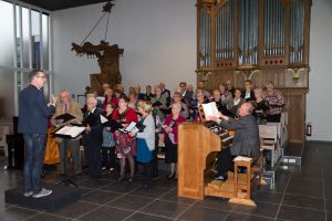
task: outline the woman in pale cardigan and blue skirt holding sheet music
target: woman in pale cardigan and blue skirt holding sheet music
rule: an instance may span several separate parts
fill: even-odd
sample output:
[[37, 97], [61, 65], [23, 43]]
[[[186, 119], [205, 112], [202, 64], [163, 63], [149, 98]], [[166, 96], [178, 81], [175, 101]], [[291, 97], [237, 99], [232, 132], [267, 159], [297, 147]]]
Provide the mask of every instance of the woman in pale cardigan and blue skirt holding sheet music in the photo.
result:
[[148, 101], [138, 103], [138, 112], [142, 114], [141, 124], [145, 126], [142, 131], [136, 134], [137, 152], [136, 160], [143, 165], [145, 175], [145, 188], [152, 185], [152, 160], [155, 149], [155, 122], [152, 115], [152, 104]]

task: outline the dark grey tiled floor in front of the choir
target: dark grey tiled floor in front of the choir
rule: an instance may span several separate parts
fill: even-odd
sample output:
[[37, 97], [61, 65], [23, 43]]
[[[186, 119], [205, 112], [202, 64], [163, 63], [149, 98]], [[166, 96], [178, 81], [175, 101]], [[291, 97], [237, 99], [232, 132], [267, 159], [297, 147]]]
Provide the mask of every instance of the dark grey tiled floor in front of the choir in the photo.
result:
[[[276, 186], [261, 187], [253, 193], [257, 208], [230, 204], [212, 197], [203, 201], [178, 198], [176, 181], [166, 179], [166, 173], [162, 173], [149, 190], [142, 188], [139, 179], [133, 183], [117, 182], [115, 176], [105, 173], [97, 182], [92, 182], [84, 175], [77, 178], [82, 199], [55, 211], [29, 210], [6, 204], [2, 191], [0, 220], [332, 220], [331, 158], [332, 145], [309, 144], [301, 167], [280, 167]], [[48, 175], [44, 182], [54, 182], [54, 175]], [[22, 171], [0, 170], [2, 190], [20, 185]]]

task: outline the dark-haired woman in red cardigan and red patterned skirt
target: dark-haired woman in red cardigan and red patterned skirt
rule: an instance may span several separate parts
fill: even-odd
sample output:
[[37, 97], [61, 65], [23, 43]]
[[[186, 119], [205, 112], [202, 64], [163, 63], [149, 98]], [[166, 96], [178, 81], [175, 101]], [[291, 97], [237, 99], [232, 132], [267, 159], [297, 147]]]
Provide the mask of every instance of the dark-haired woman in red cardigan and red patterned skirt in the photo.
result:
[[[117, 120], [124, 127], [128, 126], [132, 122], [137, 122], [137, 114], [135, 109], [128, 107], [128, 97], [125, 95], [121, 95], [118, 97], [118, 108], [113, 112], [112, 118]], [[129, 161], [131, 168], [131, 177], [128, 179], [129, 182], [133, 181], [134, 171], [135, 171], [135, 160], [134, 157], [136, 155], [136, 140], [135, 137], [129, 134], [124, 134], [121, 131], [116, 131], [115, 134], [117, 144], [115, 147], [115, 154], [117, 158], [120, 158], [120, 178], [118, 181], [124, 179], [125, 173], [125, 164], [126, 159]]]

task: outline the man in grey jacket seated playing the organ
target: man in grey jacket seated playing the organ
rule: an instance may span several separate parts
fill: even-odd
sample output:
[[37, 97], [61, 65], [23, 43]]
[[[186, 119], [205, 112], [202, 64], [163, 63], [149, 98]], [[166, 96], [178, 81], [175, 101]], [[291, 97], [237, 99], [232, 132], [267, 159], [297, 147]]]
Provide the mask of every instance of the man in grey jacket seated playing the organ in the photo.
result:
[[[230, 148], [224, 148], [218, 160], [217, 180], [227, 180], [227, 171], [232, 169], [232, 160], [237, 156], [255, 157], [259, 155], [258, 124], [252, 115], [251, 103], [243, 103], [239, 109], [239, 119], [232, 119], [222, 115], [212, 117], [221, 127], [235, 130], [234, 141]], [[221, 119], [224, 120], [221, 120]]]

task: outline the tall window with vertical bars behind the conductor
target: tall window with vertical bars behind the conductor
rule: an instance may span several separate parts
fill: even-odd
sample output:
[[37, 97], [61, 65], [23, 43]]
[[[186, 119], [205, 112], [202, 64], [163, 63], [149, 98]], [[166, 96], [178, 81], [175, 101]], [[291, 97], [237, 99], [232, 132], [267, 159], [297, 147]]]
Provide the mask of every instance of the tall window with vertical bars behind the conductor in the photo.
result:
[[[18, 94], [29, 72], [44, 70], [51, 80], [50, 12], [20, 1], [0, 0], [0, 118], [18, 115]], [[49, 97], [52, 82], [43, 88]]]

